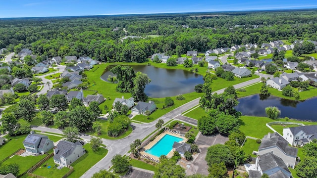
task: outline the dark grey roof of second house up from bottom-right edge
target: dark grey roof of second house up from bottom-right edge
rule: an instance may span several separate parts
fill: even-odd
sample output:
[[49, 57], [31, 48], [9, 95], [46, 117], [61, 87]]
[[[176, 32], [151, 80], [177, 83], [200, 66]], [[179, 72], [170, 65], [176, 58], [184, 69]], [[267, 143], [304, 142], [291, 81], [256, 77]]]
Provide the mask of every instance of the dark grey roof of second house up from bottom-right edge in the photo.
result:
[[272, 146], [277, 146], [285, 154], [292, 155], [295, 157], [297, 156], [297, 148], [288, 146], [288, 141], [277, 133], [270, 134], [269, 138], [267, 138], [267, 135], [264, 135], [259, 150], [269, 148]]

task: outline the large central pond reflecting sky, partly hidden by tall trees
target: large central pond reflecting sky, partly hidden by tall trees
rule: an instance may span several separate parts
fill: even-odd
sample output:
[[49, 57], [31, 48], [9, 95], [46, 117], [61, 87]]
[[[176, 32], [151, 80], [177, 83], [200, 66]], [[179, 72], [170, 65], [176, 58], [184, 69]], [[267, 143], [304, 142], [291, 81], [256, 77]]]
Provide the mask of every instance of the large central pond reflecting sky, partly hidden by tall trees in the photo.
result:
[[[108, 66], [101, 78], [107, 82], [108, 75], [113, 74]], [[175, 96], [193, 92], [195, 86], [204, 84], [203, 76], [193, 72], [180, 69], [162, 69], [147, 65], [131, 65], [135, 73], [142, 72], [148, 74], [151, 82], [145, 88], [145, 93], [149, 97], [160, 98], [166, 96]]]

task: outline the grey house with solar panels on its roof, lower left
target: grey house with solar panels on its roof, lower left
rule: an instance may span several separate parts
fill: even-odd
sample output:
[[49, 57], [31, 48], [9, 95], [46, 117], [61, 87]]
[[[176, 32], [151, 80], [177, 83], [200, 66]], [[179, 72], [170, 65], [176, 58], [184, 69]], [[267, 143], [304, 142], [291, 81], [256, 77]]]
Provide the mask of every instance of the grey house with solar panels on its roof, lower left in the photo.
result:
[[53, 141], [46, 135], [35, 134], [31, 131], [23, 141], [23, 146], [27, 152], [44, 154], [54, 147]]

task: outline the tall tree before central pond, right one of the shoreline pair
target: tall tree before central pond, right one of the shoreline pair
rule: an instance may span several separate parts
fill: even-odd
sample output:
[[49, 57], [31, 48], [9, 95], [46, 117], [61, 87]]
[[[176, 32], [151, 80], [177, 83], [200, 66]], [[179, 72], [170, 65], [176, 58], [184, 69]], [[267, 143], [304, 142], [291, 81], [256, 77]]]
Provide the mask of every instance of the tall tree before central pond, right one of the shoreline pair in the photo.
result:
[[150, 82], [151, 79], [147, 74], [143, 74], [142, 72], [136, 73], [136, 77], [133, 79], [134, 87], [131, 91], [131, 95], [136, 101], [146, 101], [148, 99], [144, 89]]

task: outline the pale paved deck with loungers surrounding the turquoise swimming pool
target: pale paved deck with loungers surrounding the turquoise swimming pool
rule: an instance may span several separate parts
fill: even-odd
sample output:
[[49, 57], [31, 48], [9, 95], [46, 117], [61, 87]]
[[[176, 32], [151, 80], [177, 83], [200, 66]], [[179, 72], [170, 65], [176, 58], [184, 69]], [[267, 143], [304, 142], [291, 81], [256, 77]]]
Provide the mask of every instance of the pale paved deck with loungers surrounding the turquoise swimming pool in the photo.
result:
[[[156, 137], [153, 141], [151, 141], [149, 144], [144, 146], [144, 149], [147, 150], [147, 149], [152, 148], [152, 146], [154, 146], [163, 136], [165, 136], [165, 134], [169, 134], [169, 135], [172, 135], [172, 136], [176, 136], [176, 137], [182, 138], [183, 140], [181, 142], [186, 142], [188, 140], [185, 136], [180, 136], [180, 134], [175, 134], [175, 132], [172, 134], [169, 131], [164, 131], [162, 134], [159, 134], [159, 136]], [[159, 160], [159, 157], [154, 156], [152, 154], [148, 154], [145, 151], [141, 151], [140, 153], [141, 153], [141, 155], [146, 155], [146, 156], [149, 156], [149, 157], [154, 158], [156, 160]], [[174, 154], [174, 151], [173, 151], [173, 149], [171, 149], [171, 151], [166, 156], [168, 158], [170, 158], [170, 157], [173, 156], [173, 154]]]

